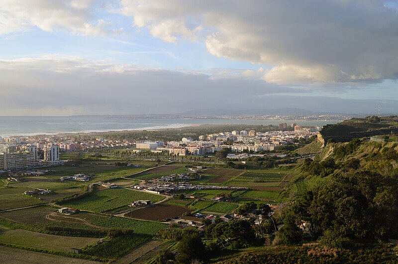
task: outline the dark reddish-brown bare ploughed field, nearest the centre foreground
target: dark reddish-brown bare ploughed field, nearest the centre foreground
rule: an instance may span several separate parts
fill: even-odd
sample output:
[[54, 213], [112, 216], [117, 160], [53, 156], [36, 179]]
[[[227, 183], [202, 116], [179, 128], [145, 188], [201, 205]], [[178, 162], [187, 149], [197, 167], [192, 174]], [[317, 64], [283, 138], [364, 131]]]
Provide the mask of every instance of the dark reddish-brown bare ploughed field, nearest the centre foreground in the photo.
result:
[[125, 216], [144, 220], [163, 220], [181, 216], [185, 212], [192, 212], [192, 210], [179, 205], [157, 204], [132, 211]]

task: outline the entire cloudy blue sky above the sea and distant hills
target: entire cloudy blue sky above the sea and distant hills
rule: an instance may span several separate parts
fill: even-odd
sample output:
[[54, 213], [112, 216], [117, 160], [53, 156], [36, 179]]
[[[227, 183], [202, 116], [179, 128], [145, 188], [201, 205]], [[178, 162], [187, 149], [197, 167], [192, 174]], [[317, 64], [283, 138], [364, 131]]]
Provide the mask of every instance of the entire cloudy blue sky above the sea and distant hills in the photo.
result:
[[0, 116], [398, 114], [397, 79], [398, 1], [0, 1]]

